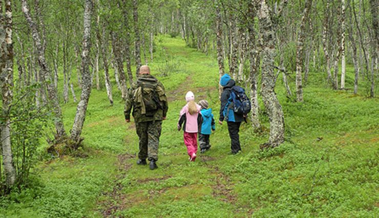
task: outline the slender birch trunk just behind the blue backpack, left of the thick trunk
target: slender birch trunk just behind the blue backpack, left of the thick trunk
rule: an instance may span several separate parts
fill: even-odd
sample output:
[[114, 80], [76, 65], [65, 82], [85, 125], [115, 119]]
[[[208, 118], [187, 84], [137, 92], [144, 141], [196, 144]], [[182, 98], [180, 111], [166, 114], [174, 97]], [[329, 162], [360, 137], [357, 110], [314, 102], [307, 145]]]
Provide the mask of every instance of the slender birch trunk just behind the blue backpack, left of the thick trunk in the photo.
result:
[[256, 32], [254, 29], [254, 20], [256, 17], [256, 10], [254, 5], [252, 5], [252, 1], [248, 4], [248, 57], [250, 64], [250, 73], [249, 73], [249, 81], [250, 81], [250, 99], [251, 99], [251, 113], [250, 120], [251, 124], [254, 128], [260, 128], [261, 123], [259, 121], [259, 104], [258, 104], [258, 69], [260, 64], [259, 53], [256, 47]]

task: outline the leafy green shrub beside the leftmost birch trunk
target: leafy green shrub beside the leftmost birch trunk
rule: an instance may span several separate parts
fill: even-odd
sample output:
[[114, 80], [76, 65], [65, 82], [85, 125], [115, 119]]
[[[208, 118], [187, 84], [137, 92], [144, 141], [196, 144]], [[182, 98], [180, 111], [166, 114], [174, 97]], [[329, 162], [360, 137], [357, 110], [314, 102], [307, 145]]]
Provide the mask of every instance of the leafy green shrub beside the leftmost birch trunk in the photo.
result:
[[31, 169], [37, 163], [38, 148], [51, 119], [47, 105], [37, 107], [35, 104], [35, 92], [39, 89], [40, 84], [36, 83], [15, 90], [10, 109], [13, 162], [19, 189], [30, 185]]

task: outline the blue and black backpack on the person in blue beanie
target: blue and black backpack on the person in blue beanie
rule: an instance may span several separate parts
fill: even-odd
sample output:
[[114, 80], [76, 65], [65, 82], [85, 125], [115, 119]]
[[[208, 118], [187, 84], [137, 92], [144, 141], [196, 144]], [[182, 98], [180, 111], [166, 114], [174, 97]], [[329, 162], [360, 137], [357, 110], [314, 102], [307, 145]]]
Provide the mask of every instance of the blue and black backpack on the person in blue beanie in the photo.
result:
[[230, 89], [229, 101], [233, 102], [233, 111], [236, 114], [245, 115], [251, 111], [250, 99], [246, 96], [245, 90], [238, 85]]

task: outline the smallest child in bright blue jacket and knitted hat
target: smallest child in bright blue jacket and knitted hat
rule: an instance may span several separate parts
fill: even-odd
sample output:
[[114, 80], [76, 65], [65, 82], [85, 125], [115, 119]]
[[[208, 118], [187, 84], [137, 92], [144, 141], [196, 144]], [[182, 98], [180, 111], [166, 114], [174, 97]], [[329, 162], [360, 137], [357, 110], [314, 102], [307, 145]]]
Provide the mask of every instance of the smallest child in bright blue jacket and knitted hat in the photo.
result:
[[215, 119], [213, 118], [212, 108], [208, 108], [208, 101], [201, 100], [198, 103], [201, 106], [201, 116], [203, 123], [201, 124], [201, 132], [199, 133], [200, 152], [204, 153], [209, 150], [209, 136], [211, 129], [216, 130]]

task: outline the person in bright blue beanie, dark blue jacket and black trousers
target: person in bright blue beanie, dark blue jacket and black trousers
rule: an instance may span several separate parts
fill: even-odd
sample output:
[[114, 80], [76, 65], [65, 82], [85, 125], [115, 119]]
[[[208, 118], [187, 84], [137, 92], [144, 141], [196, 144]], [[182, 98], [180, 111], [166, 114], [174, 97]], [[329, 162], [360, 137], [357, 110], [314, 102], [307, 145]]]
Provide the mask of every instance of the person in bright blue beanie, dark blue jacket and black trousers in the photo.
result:
[[230, 98], [231, 88], [236, 85], [236, 81], [231, 79], [228, 74], [224, 74], [220, 79], [220, 85], [223, 87], [223, 92], [220, 99], [219, 123], [222, 124], [224, 120], [227, 122], [231, 153], [235, 155], [241, 151], [240, 136], [238, 133], [240, 132], [241, 122], [244, 121], [244, 117], [233, 111], [233, 102], [231, 102]]

